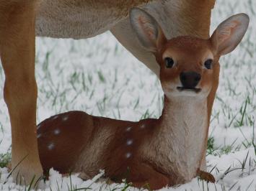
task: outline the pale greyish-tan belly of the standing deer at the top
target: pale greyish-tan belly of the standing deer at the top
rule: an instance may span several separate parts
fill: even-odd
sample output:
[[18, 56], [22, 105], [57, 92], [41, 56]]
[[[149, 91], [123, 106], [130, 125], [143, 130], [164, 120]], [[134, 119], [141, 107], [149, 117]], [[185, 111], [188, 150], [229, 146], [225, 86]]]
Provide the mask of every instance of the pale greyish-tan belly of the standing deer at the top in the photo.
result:
[[35, 31], [41, 37], [94, 37], [125, 19], [131, 7], [150, 1], [38, 0]]

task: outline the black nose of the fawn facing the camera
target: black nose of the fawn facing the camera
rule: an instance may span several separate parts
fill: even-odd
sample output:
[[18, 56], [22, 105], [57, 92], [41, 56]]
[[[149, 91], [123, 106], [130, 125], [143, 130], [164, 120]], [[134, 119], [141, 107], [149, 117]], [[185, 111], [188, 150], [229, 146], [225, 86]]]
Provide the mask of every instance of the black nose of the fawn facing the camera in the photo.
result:
[[183, 88], [195, 88], [201, 79], [201, 75], [195, 72], [180, 73], [180, 81]]

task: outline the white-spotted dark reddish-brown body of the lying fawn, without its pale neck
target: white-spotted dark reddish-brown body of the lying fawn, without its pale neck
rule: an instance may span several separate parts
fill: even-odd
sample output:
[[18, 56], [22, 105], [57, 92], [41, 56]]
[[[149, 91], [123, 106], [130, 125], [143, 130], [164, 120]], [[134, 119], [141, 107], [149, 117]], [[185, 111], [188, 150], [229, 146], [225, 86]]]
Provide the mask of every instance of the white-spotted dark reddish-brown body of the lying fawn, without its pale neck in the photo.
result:
[[[69, 116], [69, 119], [63, 121], [63, 116]], [[90, 122], [92, 120], [94, 125]], [[179, 171], [166, 171], [163, 168], [165, 165], [168, 167], [168, 163], [159, 166], [157, 162], [149, 160], [148, 154], [141, 153], [141, 148], [154, 140], [156, 132], [160, 131], [160, 121], [161, 119], [146, 119], [138, 123], [117, 121], [89, 116], [81, 111], [48, 118], [39, 124], [37, 131], [40, 135], [38, 145], [43, 169], [45, 172], [50, 167], [61, 173], [83, 172], [87, 178], [92, 178], [100, 169], [105, 169], [105, 175], [115, 182], [126, 178], [128, 182], [133, 182], [133, 186], [149, 186], [154, 190], [166, 185], [185, 183], [188, 180], [179, 175]], [[144, 129], [141, 129], [142, 125]], [[55, 129], [60, 129], [59, 135], [54, 135]], [[112, 135], [99, 140], [103, 143], [102, 148], [95, 146], [93, 139], [97, 139], [100, 131], [106, 129], [112, 131]], [[132, 140], [132, 144], [127, 145], [127, 140]], [[55, 145], [53, 150], [48, 149], [50, 143]], [[91, 161], [90, 157], [98, 150], [101, 153]], [[131, 153], [131, 157], [127, 158], [128, 153]], [[156, 153], [154, 155], [158, 156]], [[198, 163], [197, 169], [199, 167]], [[196, 171], [193, 177], [195, 175]]]

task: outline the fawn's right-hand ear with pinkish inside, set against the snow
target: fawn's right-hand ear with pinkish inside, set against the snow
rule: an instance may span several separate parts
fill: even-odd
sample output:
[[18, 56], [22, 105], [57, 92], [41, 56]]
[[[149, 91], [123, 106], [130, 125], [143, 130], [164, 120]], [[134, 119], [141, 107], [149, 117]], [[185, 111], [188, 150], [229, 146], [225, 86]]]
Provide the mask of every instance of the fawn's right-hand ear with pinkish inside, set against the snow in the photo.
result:
[[234, 50], [244, 37], [249, 24], [247, 14], [236, 14], [221, 22], [211, 35], [211, 43], [218, 55]]

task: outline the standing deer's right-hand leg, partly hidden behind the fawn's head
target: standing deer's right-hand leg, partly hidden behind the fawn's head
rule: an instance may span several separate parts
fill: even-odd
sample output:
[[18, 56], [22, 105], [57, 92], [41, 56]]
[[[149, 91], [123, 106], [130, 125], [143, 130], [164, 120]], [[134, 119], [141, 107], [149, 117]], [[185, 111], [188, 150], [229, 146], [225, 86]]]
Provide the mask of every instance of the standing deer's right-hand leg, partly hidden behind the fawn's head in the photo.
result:
[[[193, 0], [162, 1], [162, 4], [149, 4], [149, 6], [146, 7], [146, 10], [149, 11], [150, 14], [153, 14], [168, 39], [183, 35], [192, 35], [207, 39], [211, 22], [211, 9], [213, 9], [214, 4], [215, 0], [196, 2]], [[154, 11], [154, 9], [157, 11]], [[111, 29], [111, 32], [127, 50], [136, 56], [138, 60], [144, 62], [149, 69], [159, 76], [160, 70], [154, 56], [151, 55], [151, 52], [147, 52], [141, 47], [131, 29], [128, 19], [116, 24], [115, 27]], [[210, 125], [213, 101], [219, 85], [219, 62], [216, 62], [214, 67], [214, 80], [211, 92], [208, 95], [207, 103], [208, 126]], [[203, 169], [206, 168], [207, 139], [208, 136], [205, 137], [205, 151], [202, 154], [201, 166]]]

